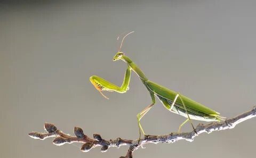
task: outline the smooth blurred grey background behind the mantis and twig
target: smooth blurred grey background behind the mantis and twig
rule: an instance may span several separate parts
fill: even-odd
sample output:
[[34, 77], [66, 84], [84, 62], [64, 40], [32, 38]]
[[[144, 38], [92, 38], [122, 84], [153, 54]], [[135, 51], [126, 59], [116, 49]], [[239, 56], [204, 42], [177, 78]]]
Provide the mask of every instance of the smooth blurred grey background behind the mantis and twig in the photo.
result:
[[[103, 98], [89, 77], [122, 84], [126, 64], [113, 62], [118, 35], [135, 31], [125, 54], [146, 76], [234, 117], [256, 103], [255, 1], [1, 1], [0, 157], [119, 157], [127, 146], [101, 153], [81, 144], [30, 138], [44, 122], [73, 134], [138, 138], [136, 115], [150, 96], [132, 73], [125, 94]], [[141, 120], [146, 134], [178, 130], [185, 118], [158, 102]], [[199, 121], [193, 121], [198, 124]], [[254, 157], [255, 119], [192, 143], [148, 144], [134, 157]], [[207, 123], [207, 122], [202, 122]], [[182, 131], [191, 131], [187, 123]]]

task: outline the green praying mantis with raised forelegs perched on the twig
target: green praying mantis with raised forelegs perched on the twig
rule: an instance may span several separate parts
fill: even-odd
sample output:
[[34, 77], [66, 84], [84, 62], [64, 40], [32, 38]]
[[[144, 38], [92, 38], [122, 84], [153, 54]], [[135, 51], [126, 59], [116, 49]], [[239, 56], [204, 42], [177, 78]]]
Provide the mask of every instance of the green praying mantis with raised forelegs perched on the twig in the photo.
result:
[[195, 131], [191, 119], [201, 121], [225, 120], [225, 117], [221, 117], [220, 113], [210, 109], [209, 107], [206, 107], [200, 103], [193, 101], [193, 99], [190, 99], [184, 95], [181, 95], [180, 93], [174, 92], [173, 90], [170, 90], [164, 86], [158, 85], [155, 82], [148, 80], [148, 78], [140, 70], [140, 68], [128, 56], [121, 52], [122, 44], [125, 37], [133, 32], [134, 31], [130, 32], [129, 34], [123, 37], [119, 50], [113, 58], [113, 61], [122, 60], [127, 64], [127, 69], [125, 71], [124, 80], [121, 87], [118, 87], [115, 84], [95, 75], [90, 77], [90, 81], [93, 84], [93, 86], [97, 90], [99, 90], [101, 95], [107, 98], [105, 95], [103, 95], [102, 91], [105, 90], [109, 92], [125, 93], [129, 89], [131, 71], [134, 71], [138, 75], [139, 79], [141, 80], [142, 84], [145, 85], [151, 97], [151, 104], [137, 114], [137, 122], [139, 126], [139, 139], [141, 138], [141, 132], [145, 136], [145, 132], [142, 129], [140, 120], [155, 104], [155, 97], [158, 97], [159, 101], [164, 105], [164, 107], [167, 110], [187, 118], [183, 123], [180, 124], [178, 132], [180, 132], [181, 127], [187, 121], [190, 122], [191, 126]]

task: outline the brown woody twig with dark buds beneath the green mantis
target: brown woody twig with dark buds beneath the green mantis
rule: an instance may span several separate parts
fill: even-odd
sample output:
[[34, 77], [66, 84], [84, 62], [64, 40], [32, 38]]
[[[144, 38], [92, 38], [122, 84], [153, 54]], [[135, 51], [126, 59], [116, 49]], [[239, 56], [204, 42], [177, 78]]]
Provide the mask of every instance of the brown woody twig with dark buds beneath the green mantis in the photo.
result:
[[46, 132], [30, 132], [28, 135], [31, 138], [34, 139], [41, 139], [44, 140], [49, 137], [56, 137], [53, 140], [53, 144], [55, 145], [63, 145], [63, 144], [71, 144], [75, 142], [83, 143], [81, 147], [82, 152], [89, 152], [92, 148], [101, 146], [101, 152], [106, 152], [109, 147], [119, 147], [121, 145], [129, 145], [129, 149], [127, 151], [126, 156], [121, 156], [119, 158], [131, 158], [133, 152], [138, 149], [140, 146], [148, 143], [174, 143], [177, 140], [187, 140], [189, 142], [192, 142], [194, 138], [203, 132], [207, 132], [210, 134], [212, 131], [218, 131], [218, 130], [226, 130], [231, 129], [236, 126], [236, 124], [241, 123], [245, 120], [251, 119], [256, 117], [256, 106], [253, 107], [252, 110], [244, 112], [242, 114], [237, 115], [234, 118], [227, 119], [225, 121], [221, 122], [211, 122], [209, 124], [202, 124], [199, 123], [198, 126], [195, 128], [195, 131], [191, 132], [171, 132], [167, 135], [146, 135], [143, 139], [138, 140], [130, 140], [130, 139], [122, 139], [122, 138], [116, 138], [114, 140], [105, 140], [102, 139], [99, 134], [93, 134], [93, 138], [90, 138], [86, 135], [84, 135], [84, 132], [82, 128], [75, 127], [74, 133], [75, 136], [69, 136], [65, 134], [64, 132], [57, 129], [57, 127], [54, 126], [54, 124], [51, 123], [45, 123], [44, 128]]

